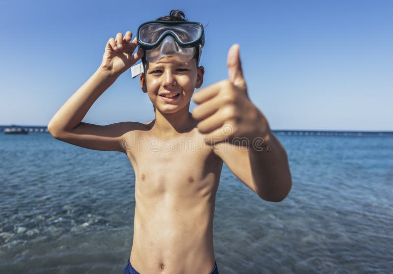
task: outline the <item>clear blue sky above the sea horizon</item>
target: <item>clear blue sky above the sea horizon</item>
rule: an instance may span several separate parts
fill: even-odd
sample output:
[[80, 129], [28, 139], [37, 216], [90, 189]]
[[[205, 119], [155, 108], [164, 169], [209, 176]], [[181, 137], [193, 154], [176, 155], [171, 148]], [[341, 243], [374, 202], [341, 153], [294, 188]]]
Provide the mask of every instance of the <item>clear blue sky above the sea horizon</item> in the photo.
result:
[[[249, 97], [272, 129], [393, 130], [393, 1], [2, 1], [0, 125], [46, 125], [117, 32], [182, 9], [205, 27], [203, 87], [240, 44]], [[196, 105], [192, 102], [191, 110]], [[146, 122], [130, 71], [84, 122]]]

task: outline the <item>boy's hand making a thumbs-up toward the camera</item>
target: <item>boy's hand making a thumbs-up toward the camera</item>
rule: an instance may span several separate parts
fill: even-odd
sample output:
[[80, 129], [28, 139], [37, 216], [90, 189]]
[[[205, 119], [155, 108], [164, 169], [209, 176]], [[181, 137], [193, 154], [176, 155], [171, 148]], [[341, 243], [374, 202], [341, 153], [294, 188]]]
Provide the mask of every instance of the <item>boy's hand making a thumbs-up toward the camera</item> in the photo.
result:
[[205, 87], [194, 94], [199, 104], [193, 118], [199, 132], [207, 134], [206, 143], [231, 142], [235, 138], [265, 137], [270, 133], [266, 118], [250, 101], [243, 77], [239, 45], [228, 51], [228, 80]]

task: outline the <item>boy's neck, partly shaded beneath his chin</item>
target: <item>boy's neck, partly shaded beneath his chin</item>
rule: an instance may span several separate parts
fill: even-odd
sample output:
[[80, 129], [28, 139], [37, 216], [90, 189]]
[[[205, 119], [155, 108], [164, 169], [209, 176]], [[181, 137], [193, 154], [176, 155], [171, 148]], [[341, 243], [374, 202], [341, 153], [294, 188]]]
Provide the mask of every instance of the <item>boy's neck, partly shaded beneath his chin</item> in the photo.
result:
[[192, 117], [190, 103], [183, 109], [174, 113], [164, 113], [155, 108], [156, 119], [153, 129], [157, 135], [164, 137], [178, 137], [181, 133], [189, 132], [197, 126], [197, 121]]

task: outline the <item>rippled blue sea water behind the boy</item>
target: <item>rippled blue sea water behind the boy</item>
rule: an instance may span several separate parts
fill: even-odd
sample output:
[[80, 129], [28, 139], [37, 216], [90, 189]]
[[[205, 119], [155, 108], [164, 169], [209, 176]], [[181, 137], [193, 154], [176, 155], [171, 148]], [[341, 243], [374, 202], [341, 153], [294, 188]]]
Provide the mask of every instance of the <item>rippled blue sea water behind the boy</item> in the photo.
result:
[[[393, 136], [277, 134], [293, 179], [282, 202], [224, 164], [220, 274], [393, 273]], [[135, 209], [125, 155], [0, 132], [0, 163], [0, 273], [122, 273]]]

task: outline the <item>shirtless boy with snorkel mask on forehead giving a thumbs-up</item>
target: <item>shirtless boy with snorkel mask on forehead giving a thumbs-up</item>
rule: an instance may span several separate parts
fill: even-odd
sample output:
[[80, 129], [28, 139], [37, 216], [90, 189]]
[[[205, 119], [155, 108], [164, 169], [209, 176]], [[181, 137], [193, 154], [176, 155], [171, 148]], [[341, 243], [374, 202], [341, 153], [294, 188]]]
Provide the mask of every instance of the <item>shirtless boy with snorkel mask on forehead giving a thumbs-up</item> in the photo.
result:
[[[223, 162], [260, 198], [279, 202], [291, 188], [285, 150], [248, 98], [238, 45], [228, 52], [229, 80], [198, 91], [199, 105], [190, 113], [204, 75], [198, 64], [202, 25], [172, 10], [142, 24], [132, 42], [131, 36], [117, 33], [108, 41], [99, 69], [56, 112], [48, 130], [56, 139], [129, 158], [136, 205], [125, 274], [217, 274], [213, 216]], [[140, 58], [136, 74], [142, 72], [141, 89], [155, 119], [82, 122], [95, 100]]]

